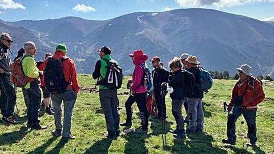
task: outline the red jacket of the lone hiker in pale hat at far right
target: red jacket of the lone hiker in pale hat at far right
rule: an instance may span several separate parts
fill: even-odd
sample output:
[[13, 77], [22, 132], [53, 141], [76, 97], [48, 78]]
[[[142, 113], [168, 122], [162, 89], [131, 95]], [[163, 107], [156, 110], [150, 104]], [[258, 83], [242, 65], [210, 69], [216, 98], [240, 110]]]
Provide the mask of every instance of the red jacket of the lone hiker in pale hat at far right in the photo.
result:
[[234, 85], [231, 100], [229, 103], [230, 107], [233, 106], [236, 95], [240, 97], [243, 96], [242, 106], [244, 110], [256, 110], [257, 104], [261, 103], [265, 98], [263, 87], [261, 85], [261, 82], [257, 78], [254, 78], [254, 80], [248, 79], [245, 81], [242, 81], [241, 79], [239, 79], [236, 82], [236, 84]]

